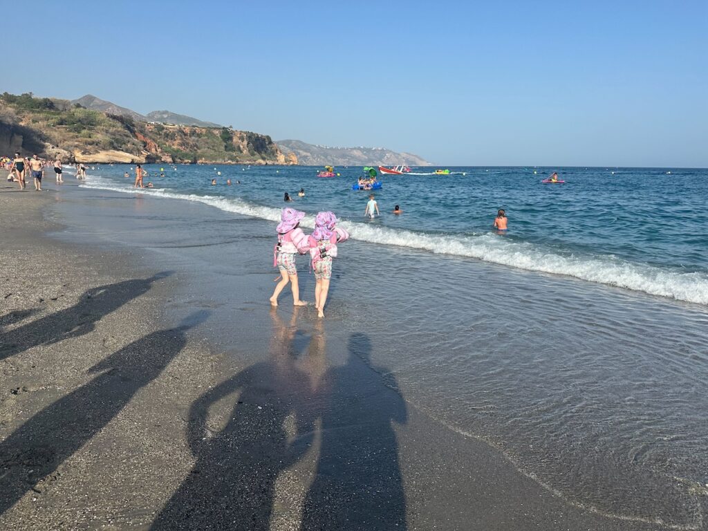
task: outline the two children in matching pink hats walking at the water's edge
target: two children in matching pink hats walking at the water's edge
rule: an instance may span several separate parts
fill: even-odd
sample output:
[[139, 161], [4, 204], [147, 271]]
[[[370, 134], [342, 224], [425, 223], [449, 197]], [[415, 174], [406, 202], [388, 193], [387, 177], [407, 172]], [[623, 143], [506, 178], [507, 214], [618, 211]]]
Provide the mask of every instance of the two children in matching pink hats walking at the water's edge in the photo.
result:
[[324, 317], [324, 305], [327, 302], [329, 282], [332, 278], [332, 261], [338, 255], [337, 245], [349, 238], [349, 233], [337, 227], [338, 219], [334, 212], [319, 212], [314, 219], [314, 231], [305, 236], [299, 228], [304, 212], [294, 208], [284, 208], [280, 212], [280, 224], [275, 228], [278, 232], [278, 243], [273, 248], [273, 266], [278, 266], [280, 277], [275, 285], [270, 304], [278, 306], [278, 296], [288, 282], [292, 290], [292, 304], [306, 306], [307, 302], [300, 299], [297, 282], [297, 267], [295, 256], [309, 253], [310, 267], [314, 271], [314, 299], [317, 315]]

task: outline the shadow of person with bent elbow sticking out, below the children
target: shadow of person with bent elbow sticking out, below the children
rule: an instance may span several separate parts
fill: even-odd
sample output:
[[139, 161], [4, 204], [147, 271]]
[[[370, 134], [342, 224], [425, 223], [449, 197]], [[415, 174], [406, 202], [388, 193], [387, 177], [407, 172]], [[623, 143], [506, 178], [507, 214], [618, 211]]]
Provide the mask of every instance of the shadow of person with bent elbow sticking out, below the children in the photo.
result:
[[[312, 426], [297, 410], [309, 394], [296, 367], [298, 309], [287, 326], [273, 316], [267, 361], [252, 365], [198, 398], [190, 410], [188, 440], [196, 457], [189, 475], [167, 502], [153, 530], [268, 530], [275, 479], [304, 455]], [[236, 396], [238, 398], [236, 399]], [[229, 399], [222, 421], [210, 409]], [[292, 415], [292, 417], [291, 417]], [[285, 424], [292, 421], [288, 437]]]

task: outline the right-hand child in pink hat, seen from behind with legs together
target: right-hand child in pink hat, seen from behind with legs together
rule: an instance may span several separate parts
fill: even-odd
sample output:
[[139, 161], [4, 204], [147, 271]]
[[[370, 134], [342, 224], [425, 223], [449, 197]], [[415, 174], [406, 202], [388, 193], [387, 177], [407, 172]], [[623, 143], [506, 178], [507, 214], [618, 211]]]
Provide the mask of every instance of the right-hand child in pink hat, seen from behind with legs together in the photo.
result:
[[320, 317], [324, 317], [324, 304], [327, 302], [329, 280], [332, 278], [332, 258], [337, 256], [337, 244], [349, 238], [346, 230], [335, 227], [337, 221], [333, 212], [319, 212], [314, 219], [314, 232], [308, 241], [315, 278], [315, 307]]

